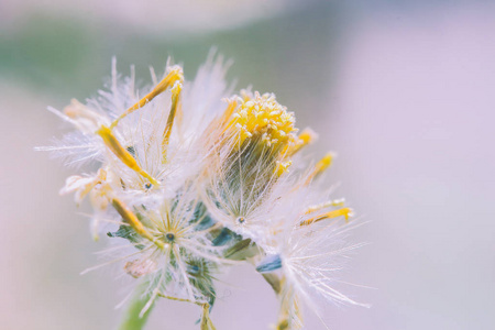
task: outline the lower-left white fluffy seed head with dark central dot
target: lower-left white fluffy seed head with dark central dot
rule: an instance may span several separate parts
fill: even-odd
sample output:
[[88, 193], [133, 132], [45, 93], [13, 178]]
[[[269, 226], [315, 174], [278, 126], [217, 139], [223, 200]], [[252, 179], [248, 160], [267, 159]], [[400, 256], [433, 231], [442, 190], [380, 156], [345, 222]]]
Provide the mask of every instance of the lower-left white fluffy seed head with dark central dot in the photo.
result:
[[216, 227], [193, 193], [178, 194], [154, 210], [142, 206], [132, 211], [121, 200], [112, 201], [123, 222], [109, 235], [139, 250], [123, 257], [124, 271], [135, 278], [146, 275], [150, 283], [142, 314], [158, 295], [213, 305], [217, 267], [232, 263], [222, 257], [224, 248], [212, 244]]

